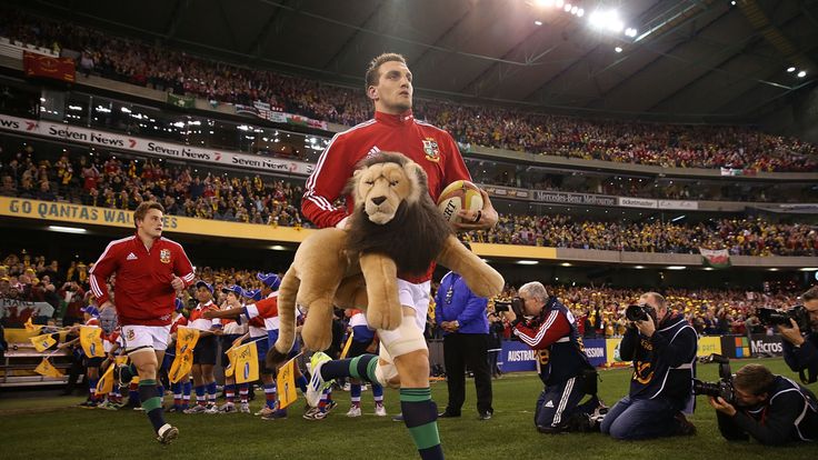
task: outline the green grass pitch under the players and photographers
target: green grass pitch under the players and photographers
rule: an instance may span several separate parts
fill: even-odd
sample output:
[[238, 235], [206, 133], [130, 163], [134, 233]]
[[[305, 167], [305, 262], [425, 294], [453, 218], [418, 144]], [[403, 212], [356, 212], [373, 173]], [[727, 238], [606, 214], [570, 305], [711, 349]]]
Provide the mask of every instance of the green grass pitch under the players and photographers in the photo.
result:
[[[774, 372], [796, 378], [780, 359], [734, 361], [736, 371], [748, 362], [762, 362]], [[699, 366], [699, 378], [715, 380], [715, 364]], [[630, 371], [601, 371], [600, 397], [612, 406], [627, 392]], [[477, 420], [473, 382], [467, 381], [460, 419], [439, 420], [448, 459], [818, 459], [818, 444], [765, 448], [758, 443], [729, 443], [718, 433], [716, 416], [699, 398], [692, 417], [694, 437], [621, 442], [599, 433], [545, 436], [533, 429], [533, 404], [541, 383], [533, 373], [511, 374], [493, 381], [495, 417]], [[814, 391], [818, 384], [812, 384]], [[252, 403], [258, 410], [263, 396]], [[446, 383], [432, 384], [440, 410]], [[345, 417], [349, 393], [336, 391], [338, 408], [323, 421], [301, 418], [302, 400], [285, 420], [262, 421], [251, 414], [168, 414], [180, 436], [160, 446], [142, 412], [80, 409], [78, 397], [20, 398], [0, 394], [0, 458], [11, 459], [417, 459], [402, 423], [372, 414], [371, 392], [363, 392], [365, 416]], [[170, 397], [166, 403], [170, 403]], [[387, 409], [399, 412], [398, 394], [386, 392]]]

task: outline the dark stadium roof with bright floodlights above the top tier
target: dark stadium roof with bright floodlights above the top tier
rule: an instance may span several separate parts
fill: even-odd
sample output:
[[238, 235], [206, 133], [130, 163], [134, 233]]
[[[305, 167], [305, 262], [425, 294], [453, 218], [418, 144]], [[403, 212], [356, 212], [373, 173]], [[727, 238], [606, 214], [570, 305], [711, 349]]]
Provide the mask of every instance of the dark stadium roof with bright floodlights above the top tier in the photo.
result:
[[[560, 0], [18, 4], [216, 59], [359, 88], [369, 59], [397, 51], [408, 58], [421, 94], [548, 111], [755, 121], [818, 81], [816, 0], [567, 2], [585, 14], [557, 8]], [[591, 26], [595, 11], [610, 10], [621, 18], [614, 27], [619, 31]], [[621, 33], [626, 27], [636, 29], [632, 37]], [[806, 76], [798, 76], [801, 70]]]

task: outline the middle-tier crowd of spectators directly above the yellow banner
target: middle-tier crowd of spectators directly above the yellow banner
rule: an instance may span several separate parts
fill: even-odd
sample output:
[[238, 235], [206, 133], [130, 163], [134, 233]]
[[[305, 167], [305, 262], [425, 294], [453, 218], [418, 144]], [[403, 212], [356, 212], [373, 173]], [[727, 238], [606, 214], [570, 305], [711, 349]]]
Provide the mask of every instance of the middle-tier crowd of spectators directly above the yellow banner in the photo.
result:
[[[281, 227], [310, 227], [300, 212], [302, 187], [260, 176], [198, 173], [161, 160], [123, 160], [113, 154], [68, 151], [53, 163], [31, 146], [0, 157], [0, 194], [132, 210], [144, 200], [167, 212], [199, 219]], [[610, 222], [570, 216], [502, 214], [491, 231], [471, 241], [632, 252], [697, 253], [728, 249], [732, 256], [817, 256], [818, 230], [761, 218], [698, 223]]]

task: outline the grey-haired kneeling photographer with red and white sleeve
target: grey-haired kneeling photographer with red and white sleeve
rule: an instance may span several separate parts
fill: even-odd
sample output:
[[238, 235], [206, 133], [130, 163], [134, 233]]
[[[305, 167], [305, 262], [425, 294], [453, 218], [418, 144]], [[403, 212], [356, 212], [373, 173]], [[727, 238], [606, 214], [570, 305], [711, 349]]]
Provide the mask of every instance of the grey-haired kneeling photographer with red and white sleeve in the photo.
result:
[[[520, 341], [539, 351], [540, 379], [546, 384], [535, 409], [541, 433], [590, 431], [595, 410], [605, 409], [597, 398], [597, 372], [588, 361], [571, 312], [539, 282], [519, 289], [502, 314]], [[498, 311], [502, 303], [495, 302]], [[510, 307], [510, 308], [509, 308]], [[586, 394], [588, 401], [579, 403]]]

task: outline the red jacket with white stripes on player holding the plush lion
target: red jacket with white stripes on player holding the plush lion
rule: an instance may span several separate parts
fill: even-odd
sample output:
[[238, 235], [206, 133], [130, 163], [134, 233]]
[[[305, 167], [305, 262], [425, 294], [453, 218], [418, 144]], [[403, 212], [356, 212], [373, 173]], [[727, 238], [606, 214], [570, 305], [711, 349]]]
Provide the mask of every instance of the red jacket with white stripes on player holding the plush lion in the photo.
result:
[[[332, 203], [341, 197], [359, 161], [380, 151], [400, 152], [420, 164], [429, 177], [429, 194], [437, 202], [440, 192], [456, 180], [471, 180], [460, 151], [448, 132], [418, 121], [411, 111], [400, 116], [376, 112], [372, 120], [336, 134], [318, 159], [307, 180], [301, 212], [320, 228], [335, 227], [352, 212], [355, 201], [346, 197], [347, 209]], [[418, 282], [430, 279], [409, 279]], [[405, 277], [401, 277], [405, 278]]]

